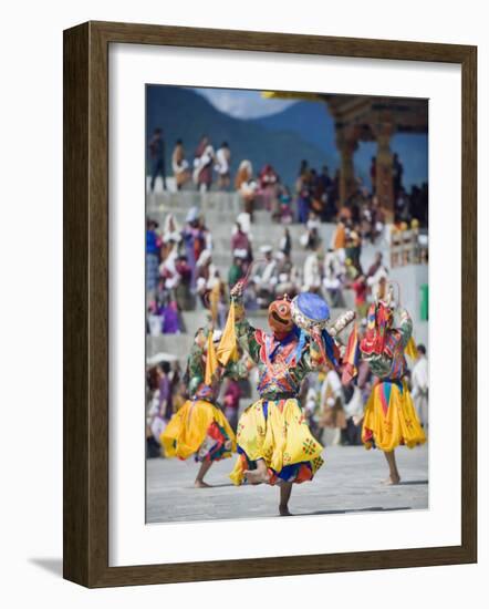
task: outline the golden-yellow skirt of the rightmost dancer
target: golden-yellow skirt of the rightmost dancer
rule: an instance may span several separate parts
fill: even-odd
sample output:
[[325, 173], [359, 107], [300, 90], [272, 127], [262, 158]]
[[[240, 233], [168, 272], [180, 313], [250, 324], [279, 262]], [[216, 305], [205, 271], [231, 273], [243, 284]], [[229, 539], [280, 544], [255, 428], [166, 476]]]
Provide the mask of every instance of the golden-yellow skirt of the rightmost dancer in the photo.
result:
[[413, 448], [426, 442], [404, 381], [381, 381], [374, 386], [365, 406], [362, 441], [366, 448], [375, 444], [386, 453], [399, 444]]

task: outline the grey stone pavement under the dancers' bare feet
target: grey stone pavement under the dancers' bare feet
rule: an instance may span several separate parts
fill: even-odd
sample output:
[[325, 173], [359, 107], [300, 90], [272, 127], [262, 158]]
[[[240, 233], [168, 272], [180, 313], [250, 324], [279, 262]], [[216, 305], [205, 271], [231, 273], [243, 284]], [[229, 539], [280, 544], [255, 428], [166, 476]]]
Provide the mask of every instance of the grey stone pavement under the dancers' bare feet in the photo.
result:
[[[325, 464], [312, 482], [294, 485], [289, 504], [298, 516], [426, 509], [428, 447], [396, 450], [402, 483], [386, 486], [387, 465], [379, 451], [330, 446]], [[206, 481], [212, 488], [194, 488], [198, 464], [193, 460], [147, 461], [147, 523], [196, 522], [277, 516], [279, 489], [267, 485], [233, 486], [228, 478], [236, 456], [214, 464]]]

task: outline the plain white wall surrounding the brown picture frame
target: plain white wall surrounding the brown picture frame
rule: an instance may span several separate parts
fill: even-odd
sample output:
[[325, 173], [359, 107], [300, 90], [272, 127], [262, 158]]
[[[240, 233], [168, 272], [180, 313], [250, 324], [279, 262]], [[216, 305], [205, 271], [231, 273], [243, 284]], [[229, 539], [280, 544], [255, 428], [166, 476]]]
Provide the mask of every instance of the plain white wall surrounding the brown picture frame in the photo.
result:
[[[282, 607], [304, 602], [396, 608], [460, 607], [487, 598], [488, 441], [480, 379], [480, 564], [410, 569], [87, 591], [63, 581], [61, 560], [62, 396], [62, 30], [87, 19], [311, 34], [479, 44], [479, 226], [488, 226], [487, 171], [489, 41], [485, 3], [466, 0], [393, 3], [343, 2], [8, 2], [2, 4], [1, 179], [1, 574], [6, 607], [215, 607], [254, 609], [266, 598]], [[447, 125], [449, 128], [449, 125]], [[13, 163], [11, 161], [13, 159]], [[488, 256], [481, 240], [480, 260]], [[486, 265], [482, 273], [486, 271]], [[481, 275], [482, 275], [481, 273]], [[29, 289], [25, 290], [25, 277]], [[7, 281], [6, 281], [7, 280]], [[480, 291], [487, 295], [487, 280]], [[481, 299], [485, 302], [483, 299]], [[480, 327], [487, 337], [488, 316]], [[28, 331], [29, 340], [23, 338]], [[480, 341], [481, 342], [481, 341]], [[30, 344], [29, 353], [25, 345]], [[487, 355], [480, 350], [480, 367]], [[6, 421], [3, 421], [7, 419]], [[25, 454], [25, 444], [33, 444]], [[447, 472], [449, 475], [449, 472]], [[53, 572], [55, 571], [55, 575]], [[263, 596], [262, 596], [263, 595]], [[271, 598], [270, 598], [271, 597]], [[262, 601], [259, 599], [262, 598]], [[419, 600], [418, 600], [419, 599]], [[416, 601], [418, 600], [418, 603]], [[6, 602], [7, 601], [7, 602]], [[181, 605], [183, 603], [183, 605]], [[475, 603], [480, 607], [481, 602]]]

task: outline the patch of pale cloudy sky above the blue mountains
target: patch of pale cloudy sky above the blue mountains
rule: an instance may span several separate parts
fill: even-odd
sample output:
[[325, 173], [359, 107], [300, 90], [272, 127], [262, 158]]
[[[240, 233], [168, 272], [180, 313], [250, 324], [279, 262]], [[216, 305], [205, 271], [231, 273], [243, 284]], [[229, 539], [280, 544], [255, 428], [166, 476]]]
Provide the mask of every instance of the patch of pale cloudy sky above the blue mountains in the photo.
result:
[[293, 100], [267, 100], [259, 91], [235, 89], [195, 89], [215, 107], [237, 118], [258, 118], [281, 112], [294, 104]]

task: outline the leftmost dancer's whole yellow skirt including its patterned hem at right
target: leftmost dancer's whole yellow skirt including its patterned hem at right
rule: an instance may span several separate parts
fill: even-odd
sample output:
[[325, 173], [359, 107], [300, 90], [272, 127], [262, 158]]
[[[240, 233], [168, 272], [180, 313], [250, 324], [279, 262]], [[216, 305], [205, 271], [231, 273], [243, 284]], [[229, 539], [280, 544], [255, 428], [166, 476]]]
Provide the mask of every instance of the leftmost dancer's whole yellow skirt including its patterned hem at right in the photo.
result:
[[[188, 400], [160, 435], [167, 457], [219, 461], [236, 451], [236, 438], [222, 412], [205, 400]], [[229, 441], [231, 446], [229, 447]]]

